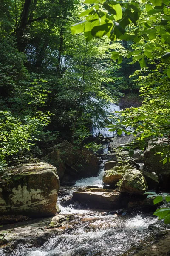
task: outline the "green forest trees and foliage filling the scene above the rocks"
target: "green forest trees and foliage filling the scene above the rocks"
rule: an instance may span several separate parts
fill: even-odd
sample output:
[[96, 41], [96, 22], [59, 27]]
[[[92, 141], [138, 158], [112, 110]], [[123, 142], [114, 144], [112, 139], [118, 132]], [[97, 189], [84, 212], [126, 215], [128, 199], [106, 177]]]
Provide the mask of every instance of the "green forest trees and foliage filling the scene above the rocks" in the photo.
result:
[[[168, 0], [2, 0], [2, 168], [41, 157], [62, 140], [85, 145], [94, 123], [119, 135], [133, 128], [141, 148], [145, 138], [168, 139], [169, 6]], [[141, 94], [142, 106], [108, 121], [108, 103], [133, 93]]]

